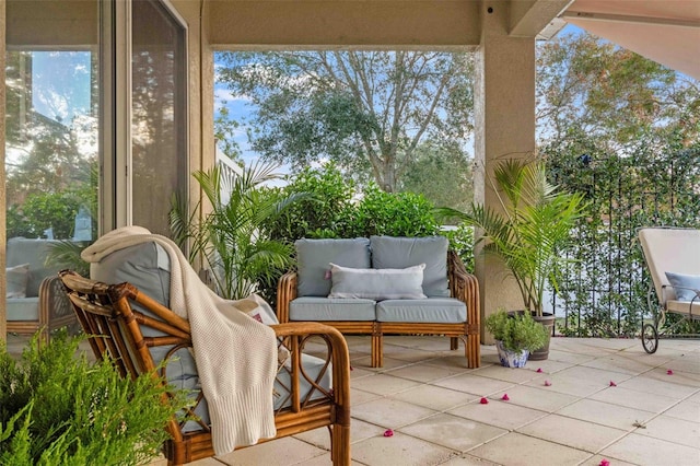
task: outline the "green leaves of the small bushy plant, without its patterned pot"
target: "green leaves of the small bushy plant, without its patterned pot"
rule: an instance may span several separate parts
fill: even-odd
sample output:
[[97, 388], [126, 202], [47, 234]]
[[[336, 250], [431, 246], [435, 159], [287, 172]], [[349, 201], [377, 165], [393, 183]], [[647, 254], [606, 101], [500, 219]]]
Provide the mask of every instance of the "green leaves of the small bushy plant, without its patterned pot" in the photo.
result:
[[485, 325], [511, 351], [535, 351], [547, 343], [547, 330], [528, 312], [499, 310], [486, 318]]

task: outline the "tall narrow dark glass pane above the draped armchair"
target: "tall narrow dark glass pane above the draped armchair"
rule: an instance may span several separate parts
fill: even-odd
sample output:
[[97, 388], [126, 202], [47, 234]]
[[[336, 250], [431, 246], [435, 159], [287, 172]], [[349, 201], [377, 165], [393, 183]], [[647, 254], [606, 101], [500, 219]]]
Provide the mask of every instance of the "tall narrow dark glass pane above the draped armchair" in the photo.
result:
[[185, 33], [156, 1], [135, 1], [132, 19], [132, 218], [170, 235], [171, 198], [187, 185]]

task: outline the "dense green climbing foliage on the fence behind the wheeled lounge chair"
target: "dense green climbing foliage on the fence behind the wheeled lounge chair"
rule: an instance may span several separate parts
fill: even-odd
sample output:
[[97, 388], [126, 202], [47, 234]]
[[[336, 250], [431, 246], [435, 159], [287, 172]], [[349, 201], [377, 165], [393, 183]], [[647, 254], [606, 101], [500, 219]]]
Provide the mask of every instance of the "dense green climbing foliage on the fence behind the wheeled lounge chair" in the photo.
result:
[[561, 330], [632, 336], [649, 308], [651, 283], [637, 230], [700, 228], [700, 143], [648, 133], [616, 151], [595, 137], [570, 136], [545, 149], [553, 182], [583, 193], [587, 201], [567, 247], [575, 261], [558, 279], [557, 304], [568, 315]]

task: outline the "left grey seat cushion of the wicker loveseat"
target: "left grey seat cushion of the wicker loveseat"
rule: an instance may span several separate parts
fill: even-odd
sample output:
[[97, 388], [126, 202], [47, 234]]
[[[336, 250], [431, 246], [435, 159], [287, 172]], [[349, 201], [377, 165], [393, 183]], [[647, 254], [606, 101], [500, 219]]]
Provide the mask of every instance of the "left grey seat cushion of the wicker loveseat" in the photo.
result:
[[289, 304], [290, 321], [375, 321], [375, 302], [361, 298], [296, 298]]

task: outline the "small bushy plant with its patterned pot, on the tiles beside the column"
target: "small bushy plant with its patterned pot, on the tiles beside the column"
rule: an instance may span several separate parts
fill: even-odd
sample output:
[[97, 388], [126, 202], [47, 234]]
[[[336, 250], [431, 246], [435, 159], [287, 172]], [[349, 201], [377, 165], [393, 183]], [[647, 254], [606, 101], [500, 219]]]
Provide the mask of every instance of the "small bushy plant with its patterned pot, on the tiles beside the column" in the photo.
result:
[[486, 328], [495, 338], [501, 365], [524, 368], [527, 357], [547, 342], [547, 330], [529, 313], [508, 313], [500, 308], [489, 315]]

